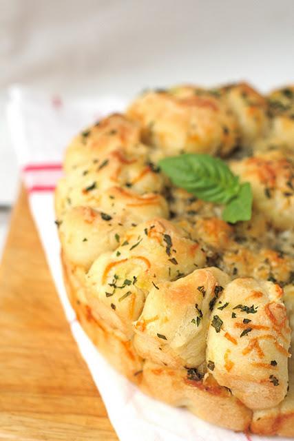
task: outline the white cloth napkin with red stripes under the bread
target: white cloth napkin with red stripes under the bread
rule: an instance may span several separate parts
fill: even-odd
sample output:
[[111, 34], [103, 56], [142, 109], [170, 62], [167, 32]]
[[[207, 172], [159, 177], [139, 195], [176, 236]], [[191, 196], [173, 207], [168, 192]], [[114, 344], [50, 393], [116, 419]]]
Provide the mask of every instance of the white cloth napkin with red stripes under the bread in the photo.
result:
[[117, 97], [61, 99], [14, 87], [10, 90], [7, 112], [12, 141], [28, 188], [30, 208], [56, 290], [78, 348], [105, 402], [109, 419], [121, 441], [274, 439], [220, 429], [187, 410], [175, 409], [145, 396], [108, 365], [76, 320], [63, 285], [59, 239], [54, 224], [54, 185], [62, 174], [63, 152], [71, 137], [101, 116], [124, 107], [123, 100]]

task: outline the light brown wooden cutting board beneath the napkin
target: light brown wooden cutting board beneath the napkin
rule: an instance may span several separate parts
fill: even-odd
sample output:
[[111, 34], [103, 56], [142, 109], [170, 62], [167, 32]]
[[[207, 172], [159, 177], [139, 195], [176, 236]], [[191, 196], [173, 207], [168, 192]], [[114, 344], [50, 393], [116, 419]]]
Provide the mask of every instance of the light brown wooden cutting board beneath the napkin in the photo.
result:
[[0, 265], [0, 440], [118, 440], [65, 320], [23, 189]]

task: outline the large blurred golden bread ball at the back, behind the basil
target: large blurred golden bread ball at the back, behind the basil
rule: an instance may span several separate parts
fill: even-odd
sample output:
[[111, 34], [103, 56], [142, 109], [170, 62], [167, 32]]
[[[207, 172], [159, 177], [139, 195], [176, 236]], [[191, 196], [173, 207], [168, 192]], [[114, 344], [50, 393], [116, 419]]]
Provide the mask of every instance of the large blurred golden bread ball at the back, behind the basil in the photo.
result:
[[238, 127], [227, 104], [205, 90], [179, 89], [147, 92], [129, 107], [129, 118], [143, 127], [143, 139], [165, 155], [230, 152]]

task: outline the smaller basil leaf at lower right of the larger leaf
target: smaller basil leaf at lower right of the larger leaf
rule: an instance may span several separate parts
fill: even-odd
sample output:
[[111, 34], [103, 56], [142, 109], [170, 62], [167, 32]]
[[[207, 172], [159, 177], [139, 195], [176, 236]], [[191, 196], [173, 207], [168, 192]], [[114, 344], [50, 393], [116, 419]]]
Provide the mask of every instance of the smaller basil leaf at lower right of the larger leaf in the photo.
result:
[[241, 185], [238, 196], [233, 198], [222, 212], [226, 222], [236, 223], [239, 220], [250, 220], [252, 212], [251, 185], [247, 182]]

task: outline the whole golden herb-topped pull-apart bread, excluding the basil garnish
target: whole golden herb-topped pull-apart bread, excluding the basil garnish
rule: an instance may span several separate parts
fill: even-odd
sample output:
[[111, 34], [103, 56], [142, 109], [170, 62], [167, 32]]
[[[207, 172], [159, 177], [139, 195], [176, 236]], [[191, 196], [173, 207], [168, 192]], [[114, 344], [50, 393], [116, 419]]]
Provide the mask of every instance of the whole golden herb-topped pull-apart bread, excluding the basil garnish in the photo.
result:
[[[183, 153], [250, 183], [251, 220], [171, 183], [158, 161]], [[206, 421], [294, 436], [294, 87], [144, 92], [78, 134], [64, 170], [65, 284], [99, 351]]]

